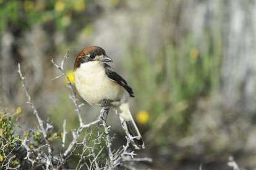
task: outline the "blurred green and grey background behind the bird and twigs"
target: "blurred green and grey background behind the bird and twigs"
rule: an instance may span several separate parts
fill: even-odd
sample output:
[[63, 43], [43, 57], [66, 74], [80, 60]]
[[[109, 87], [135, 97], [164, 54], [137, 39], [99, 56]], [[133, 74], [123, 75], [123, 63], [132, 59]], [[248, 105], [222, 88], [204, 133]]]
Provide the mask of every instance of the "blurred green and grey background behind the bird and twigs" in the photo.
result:
[[[0, 1], [0, 108], [23, 109], [20, 129], [36, 126], [17, 73], [20, 67], [43, 119], [62, 131], [78, 126], [70, 90], [75, 56], [100, 46], [134, 89], [130, 100], [152, 169], [232, 169], [234, 156], [256, 168], [256, 1]], [[79, 103], [84, 102], [79, 98]], [[99, 108], [85, 103], [83, 120]], [[108, 124], [125, 144], [117, 116]], [[120, 142], [121, 141], [121, 142]]]

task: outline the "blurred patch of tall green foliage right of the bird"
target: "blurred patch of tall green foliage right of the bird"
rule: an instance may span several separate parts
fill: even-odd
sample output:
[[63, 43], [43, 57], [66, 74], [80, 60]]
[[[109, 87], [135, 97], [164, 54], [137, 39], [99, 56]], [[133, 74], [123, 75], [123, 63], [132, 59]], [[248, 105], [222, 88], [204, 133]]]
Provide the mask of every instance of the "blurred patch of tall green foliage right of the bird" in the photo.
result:
[[210, 42], [207, 33], [204, 38], [205, 43], [197, 46], [187, 36], [181, 45], [166, 44], [155, 55], [137, 46], [128, 50], [135, 99], [150, 113], [149, 126], [161, 145], [169, 136], [186, 136], [198, 99], [218, 89], [221, 40]]

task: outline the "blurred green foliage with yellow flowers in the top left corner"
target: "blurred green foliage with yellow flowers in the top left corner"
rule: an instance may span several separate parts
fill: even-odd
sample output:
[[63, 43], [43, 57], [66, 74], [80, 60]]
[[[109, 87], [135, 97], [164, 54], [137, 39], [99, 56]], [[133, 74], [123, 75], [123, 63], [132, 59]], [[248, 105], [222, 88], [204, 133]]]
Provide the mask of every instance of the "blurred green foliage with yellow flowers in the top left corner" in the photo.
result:
[[86, 7], [83, 0], [17, 1], [0, 0], [0, 34], [7, 28], [11, 31], [26, 30], [36, 25], [55, 23], [62, 30], [71, 23], [72, 13]]

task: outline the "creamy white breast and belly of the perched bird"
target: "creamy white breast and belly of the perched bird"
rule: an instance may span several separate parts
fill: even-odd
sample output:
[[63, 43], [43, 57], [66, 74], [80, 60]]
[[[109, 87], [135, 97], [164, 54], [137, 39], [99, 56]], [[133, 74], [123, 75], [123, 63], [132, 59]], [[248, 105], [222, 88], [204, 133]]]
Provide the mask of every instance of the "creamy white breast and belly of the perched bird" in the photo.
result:
[[98, 61], [82, 63], [74, 71], [74, 76], [77, 91], [91, 105], [100, 105], [103, 99], [113, 102], [127, 100], [129, 95], [122, 86], [108, 78], [103, 64]]

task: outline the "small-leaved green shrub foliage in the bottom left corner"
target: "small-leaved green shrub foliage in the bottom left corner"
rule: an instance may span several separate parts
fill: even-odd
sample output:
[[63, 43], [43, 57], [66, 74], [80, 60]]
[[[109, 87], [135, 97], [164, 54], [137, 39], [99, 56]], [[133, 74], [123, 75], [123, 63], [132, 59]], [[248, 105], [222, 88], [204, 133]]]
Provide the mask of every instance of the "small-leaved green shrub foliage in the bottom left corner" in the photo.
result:
[[[32, 150], [30, 159], [36, 158], [44, 144], [43, 136], [40, 131], [30, 130], [29, 132], [23, 131], [23, 137], [20, 137], [15, 129], [15, 119], [19, 118], [22, 113], [22, 108], [17, 108], [15, 113], [7, 113], [2, 111], [0, 113], [0, 169], [30, 169], [32, 163], [26, 158], [27, 150], [22, 145], [26, 140], [26, 144]], [[27, 139], [29, 140], [27, 140]], [[61, 139], [61, 136], [56, 132], [48, 134], [48, 140], [53, 141]], [[40, 160], [34, 161], [34, 166], [40, 164]]]

